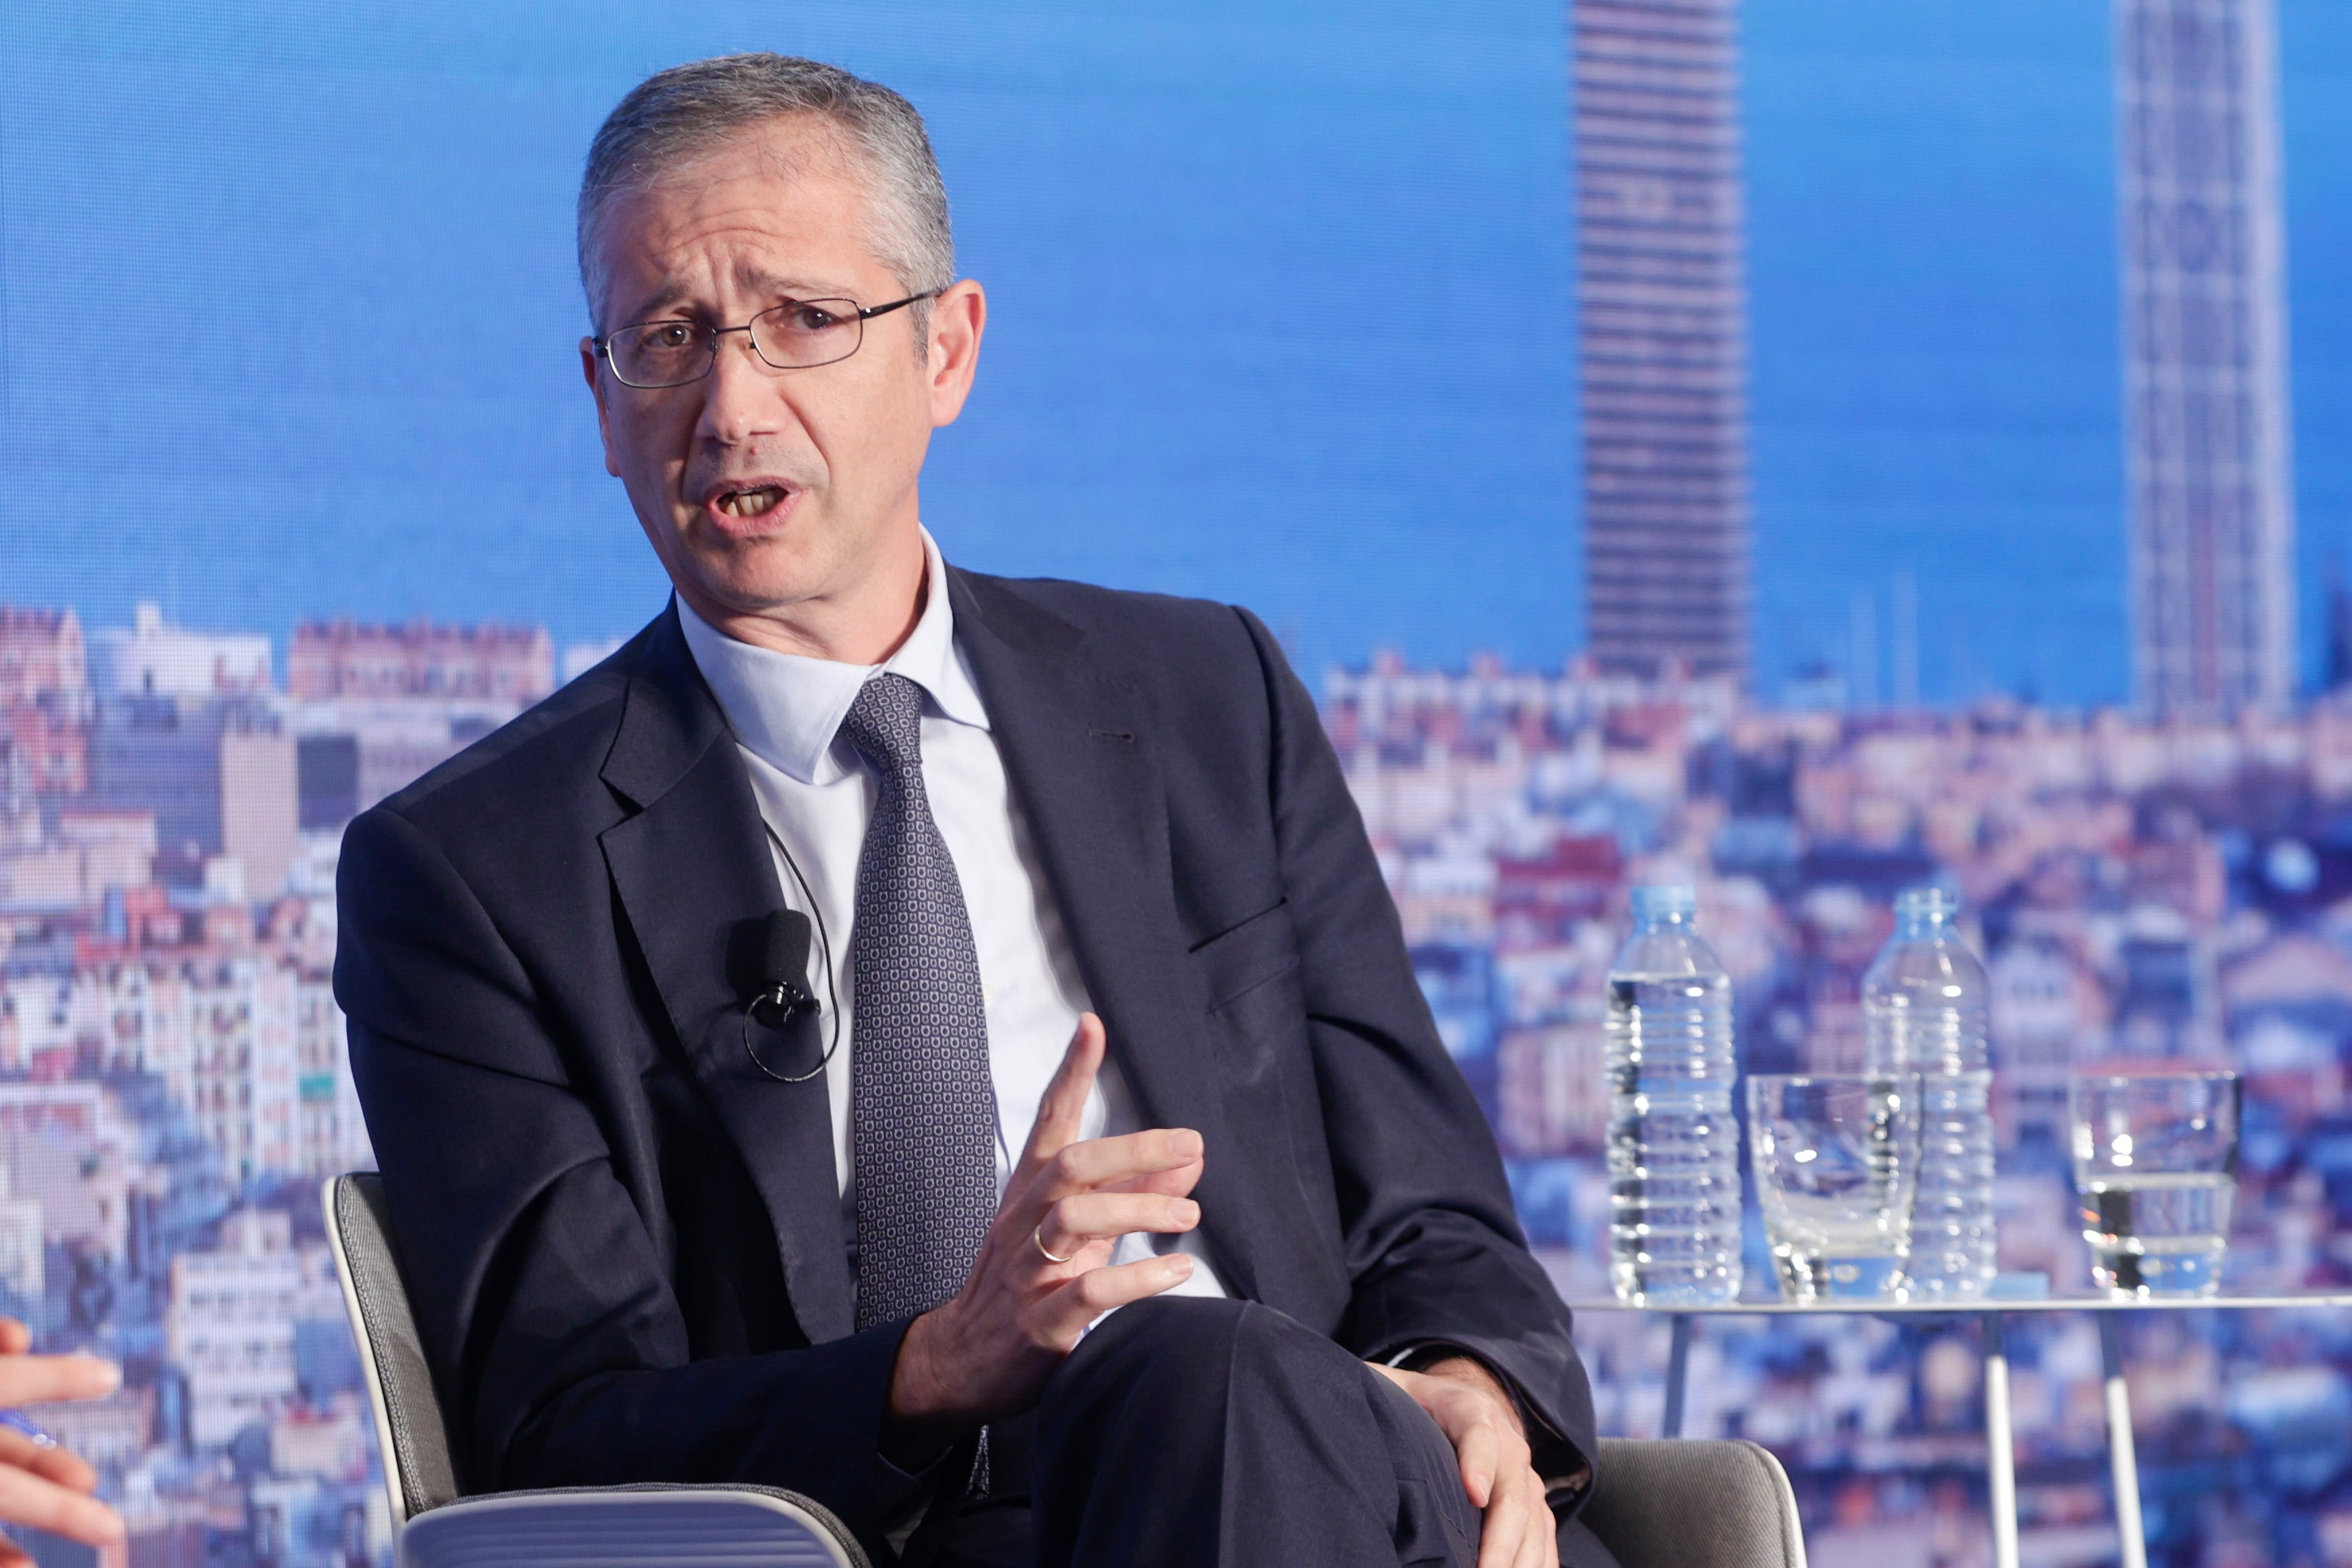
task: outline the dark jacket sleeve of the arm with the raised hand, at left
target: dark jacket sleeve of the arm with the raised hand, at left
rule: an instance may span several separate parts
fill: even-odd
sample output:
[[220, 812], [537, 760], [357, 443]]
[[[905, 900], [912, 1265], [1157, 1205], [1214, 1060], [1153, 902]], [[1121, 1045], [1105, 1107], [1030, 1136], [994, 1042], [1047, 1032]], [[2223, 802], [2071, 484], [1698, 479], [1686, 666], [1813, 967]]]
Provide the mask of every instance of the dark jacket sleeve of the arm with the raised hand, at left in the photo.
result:
[[694, 1361], [661, 1234], [482, 900], [386, 806], [343, 835], [336, 1001], [468, 1493], [741, 1481], [873, 1540], [906, 1326]]

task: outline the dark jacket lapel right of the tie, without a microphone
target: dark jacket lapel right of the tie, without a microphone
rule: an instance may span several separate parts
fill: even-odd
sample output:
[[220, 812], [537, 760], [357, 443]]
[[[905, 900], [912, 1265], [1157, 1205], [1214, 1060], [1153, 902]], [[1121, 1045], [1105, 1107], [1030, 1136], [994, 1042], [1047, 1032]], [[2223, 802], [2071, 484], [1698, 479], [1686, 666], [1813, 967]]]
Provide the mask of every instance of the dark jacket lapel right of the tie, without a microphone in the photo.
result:
[[1169, 867], [1167, 802], [1134, 689], [1091, 672], [1084, 632], [948, 569], [955, 635], [988, 703], [1007, 783], [1028, 820], [1080, 976], [1145, 1126], [1209, 1145], [1200, 1204], [1235, 1295], [1256, 1293], [1207, 1039], [1207, 997], [1185, 952]]

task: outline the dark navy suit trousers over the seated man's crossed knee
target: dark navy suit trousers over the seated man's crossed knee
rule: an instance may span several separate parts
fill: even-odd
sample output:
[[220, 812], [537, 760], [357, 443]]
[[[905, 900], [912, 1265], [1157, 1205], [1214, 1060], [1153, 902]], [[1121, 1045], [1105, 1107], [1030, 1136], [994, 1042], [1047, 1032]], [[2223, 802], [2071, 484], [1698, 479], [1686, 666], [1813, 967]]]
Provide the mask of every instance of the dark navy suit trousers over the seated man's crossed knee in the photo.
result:
[[[1437, 1422], [1329, 1338], [1256, 1302], [1122, 1307], [1070, 1352], [1037, 1410], [1002, 1432], [990, 1495], [934, 1505], [910, 1563], [1477, 1563], [1479, 1516]], [[1559, 1544], [1562, 1563], [1613, 1568], [1581, 1523], [1562, 1526]]]

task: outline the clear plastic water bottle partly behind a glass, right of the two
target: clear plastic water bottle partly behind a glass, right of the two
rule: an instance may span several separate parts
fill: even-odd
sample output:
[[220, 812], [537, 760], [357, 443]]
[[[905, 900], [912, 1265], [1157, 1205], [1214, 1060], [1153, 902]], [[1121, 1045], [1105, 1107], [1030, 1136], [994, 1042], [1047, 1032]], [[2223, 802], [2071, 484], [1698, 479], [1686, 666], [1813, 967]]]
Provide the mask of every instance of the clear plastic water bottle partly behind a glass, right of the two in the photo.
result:
[[1919, 1197], [1912, 1204], [1915, 1298], [1976, 1298], [1992, 1286], [1992, 1060], [1985, 966], [1959, 940], [1959, 898], [1907, 889], [1896, 933], [1863, 976], [1870, 1072], [1919, 1072]]

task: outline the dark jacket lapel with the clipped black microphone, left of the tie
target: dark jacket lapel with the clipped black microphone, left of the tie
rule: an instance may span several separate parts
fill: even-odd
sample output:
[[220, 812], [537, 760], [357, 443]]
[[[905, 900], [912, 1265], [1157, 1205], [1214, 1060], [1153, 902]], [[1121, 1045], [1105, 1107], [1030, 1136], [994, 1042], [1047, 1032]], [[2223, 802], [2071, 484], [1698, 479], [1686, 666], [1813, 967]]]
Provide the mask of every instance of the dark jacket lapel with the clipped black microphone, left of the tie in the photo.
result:
[[600, 844], [670, 1027], [767, 1204], [811, 1342], [851, 1331], [823, 1074], [779, 1084], [743, 1053], [746, 933], [783, 907], [760, 804], [675, 607], [654, 625], [602, 769], [640, 806]]

